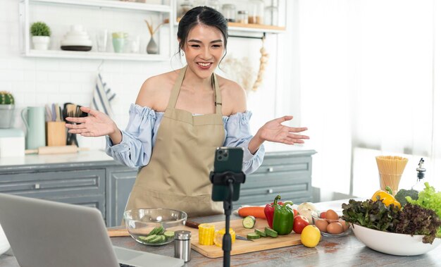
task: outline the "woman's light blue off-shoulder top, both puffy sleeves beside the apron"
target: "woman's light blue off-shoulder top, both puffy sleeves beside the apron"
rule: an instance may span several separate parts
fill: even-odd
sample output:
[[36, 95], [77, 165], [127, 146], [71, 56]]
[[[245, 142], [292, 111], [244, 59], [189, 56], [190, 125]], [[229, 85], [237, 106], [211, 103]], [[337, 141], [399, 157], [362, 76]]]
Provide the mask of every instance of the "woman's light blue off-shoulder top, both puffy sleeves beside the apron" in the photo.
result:
[[[121, 131], [123, 141], [114, 145], [107, 136], [106, 154], [132, 168], [147, 166], [164, 113], [137, 104], [130, 105], [129, 113], [128, 126]], [[244, 149], [242, 170], [245, 174], [253, 173], [259, 168], [265, 154], [263, 145], [254, 155], [248, 149], [249, 141], [253, 137], [249, 130], [250, 118], [250, 111], [223, 116], [225, 128], [223, 147], [242, 147]]]

